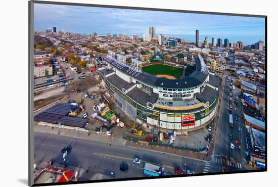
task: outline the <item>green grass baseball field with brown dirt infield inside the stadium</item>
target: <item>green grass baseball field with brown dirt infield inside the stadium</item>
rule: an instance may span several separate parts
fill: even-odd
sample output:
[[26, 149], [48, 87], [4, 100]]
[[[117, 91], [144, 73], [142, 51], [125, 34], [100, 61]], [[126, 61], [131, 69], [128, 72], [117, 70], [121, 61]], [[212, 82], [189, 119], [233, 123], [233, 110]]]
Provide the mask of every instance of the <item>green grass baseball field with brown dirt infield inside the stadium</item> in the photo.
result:
[[149, 66], [142, 67], [142, 71], [146, 73], [158, 76], [158, 77], [165, 77], [170, 79], [178, 79], [181, 78], [183, 69], [167, 66], [164, 64], [153, 64]]

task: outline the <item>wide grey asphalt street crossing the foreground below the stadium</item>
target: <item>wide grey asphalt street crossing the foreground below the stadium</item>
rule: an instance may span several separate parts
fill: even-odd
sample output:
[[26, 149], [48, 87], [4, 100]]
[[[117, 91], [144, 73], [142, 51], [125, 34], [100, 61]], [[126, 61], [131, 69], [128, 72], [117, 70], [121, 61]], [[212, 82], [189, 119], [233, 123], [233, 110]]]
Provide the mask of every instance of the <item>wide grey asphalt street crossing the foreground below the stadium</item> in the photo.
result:
[[[88, 170], [88, 173], [80, 176], [84, 179], [94, 178], [96, 173], [102, 173], [109, 178], [111, 172], [114, 173], [112, 177], [115, 178], [143, 177], [144, 162], [162, 164], [166, 175], [173, 175], [174, 167], [178, 166], [184, 169], [184, 164], [187, 169], [191, 169], [195, 173], [219, 172], [219, 163], [216, 162], [204, 162], [127, 146], [110, 146], [106, 143], [41, 132], [35, 132], [34, 135], [35, 163], [40, 166], [52, 160], [54, 165], [63, 166], [61, 150], [66, 146], [71, 147], [68, 167]], [[142, 159], [142, 163], [134, 164], [132, 162], [134, 157]], [[119, 171], [121, 162], [129, 165], [128, 172]]]

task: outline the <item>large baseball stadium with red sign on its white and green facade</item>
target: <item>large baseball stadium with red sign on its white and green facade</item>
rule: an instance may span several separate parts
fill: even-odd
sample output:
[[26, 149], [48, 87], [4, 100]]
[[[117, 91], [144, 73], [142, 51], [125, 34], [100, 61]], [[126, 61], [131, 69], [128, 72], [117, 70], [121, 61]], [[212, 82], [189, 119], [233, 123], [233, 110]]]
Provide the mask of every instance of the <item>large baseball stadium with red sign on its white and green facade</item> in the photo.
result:
[[97, 70], [101, 85], [125, 114], [144, 128], [187, 133], [213, 120], [219, 82], [200, 54], [191, 63], [194, 71], [192, 66], [181, 68], [168, 62], [142, 65], [136, 57], [127, 65], [125, 57], [111, 51], [104, 60], [108, 66]]

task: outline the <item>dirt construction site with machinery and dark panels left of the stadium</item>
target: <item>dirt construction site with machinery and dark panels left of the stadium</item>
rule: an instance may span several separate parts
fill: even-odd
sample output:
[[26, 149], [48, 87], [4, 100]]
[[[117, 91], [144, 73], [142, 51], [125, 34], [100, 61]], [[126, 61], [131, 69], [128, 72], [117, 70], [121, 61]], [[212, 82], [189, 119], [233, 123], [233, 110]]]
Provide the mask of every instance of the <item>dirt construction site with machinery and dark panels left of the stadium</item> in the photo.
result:
[[86, 129], [88, 134], [153, 139], [150, 132], [125, 115], [95, 76], [35, 89], [34, 121], [35, 125], [59, 129], [65, 126]]

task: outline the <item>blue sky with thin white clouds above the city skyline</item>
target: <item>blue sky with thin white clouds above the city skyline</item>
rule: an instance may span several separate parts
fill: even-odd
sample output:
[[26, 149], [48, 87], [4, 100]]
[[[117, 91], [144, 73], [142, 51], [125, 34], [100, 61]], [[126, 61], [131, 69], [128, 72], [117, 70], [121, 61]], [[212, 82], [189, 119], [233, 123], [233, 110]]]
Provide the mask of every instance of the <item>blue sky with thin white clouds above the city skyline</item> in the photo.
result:
[[194, 40], [195, 30], [198, 29], [200, 40], [209, 36], [211, 42], [214, 36], [246, 44], [264, 40], [265, 37], [264, 18], [34, 4], [34, 29], [45, 30], [54, 26], [66, 32], [97, 32], [98, 35], [126, 33], [129, 36], [143, 36], [153, 26], [156, 35], [186, 40]]

